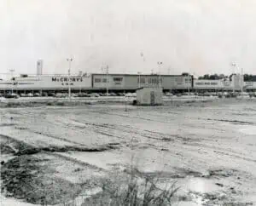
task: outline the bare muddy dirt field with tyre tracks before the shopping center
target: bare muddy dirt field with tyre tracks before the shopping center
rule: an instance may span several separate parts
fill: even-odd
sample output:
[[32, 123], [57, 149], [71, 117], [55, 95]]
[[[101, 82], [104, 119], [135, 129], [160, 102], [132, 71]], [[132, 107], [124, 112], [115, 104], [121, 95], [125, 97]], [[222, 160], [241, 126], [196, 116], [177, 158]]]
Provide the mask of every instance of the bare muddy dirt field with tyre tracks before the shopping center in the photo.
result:
[[256, 100], [6, 107], [0, 140], [3, 205], [81, 205], [131, 165], [175, 205], [256, 205]]

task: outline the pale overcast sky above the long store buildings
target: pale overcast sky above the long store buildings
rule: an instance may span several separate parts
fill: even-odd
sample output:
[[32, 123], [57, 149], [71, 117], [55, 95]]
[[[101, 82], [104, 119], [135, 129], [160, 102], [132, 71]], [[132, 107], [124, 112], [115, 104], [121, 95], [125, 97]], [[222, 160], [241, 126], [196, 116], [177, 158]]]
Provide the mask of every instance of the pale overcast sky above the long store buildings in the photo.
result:
[[0, 0], [0, 73], [66, 73], [70, 55], [72, 72], [256, 74], [256, 1]]

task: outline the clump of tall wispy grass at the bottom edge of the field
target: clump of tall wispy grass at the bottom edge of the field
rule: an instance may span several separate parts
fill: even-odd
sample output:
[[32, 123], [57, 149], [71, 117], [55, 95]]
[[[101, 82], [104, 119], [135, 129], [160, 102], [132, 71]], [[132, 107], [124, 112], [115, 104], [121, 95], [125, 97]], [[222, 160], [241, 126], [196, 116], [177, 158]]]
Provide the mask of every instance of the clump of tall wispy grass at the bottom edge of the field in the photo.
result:
[[102, 192], [85, 199], [82, 205], [172, 205], [178, 188], [173, 183], [160, 189], [156, 186], [158, 181], [149, 177], [136, 177], [132, 171], [127, 180], [106, 180], [102, 184]]

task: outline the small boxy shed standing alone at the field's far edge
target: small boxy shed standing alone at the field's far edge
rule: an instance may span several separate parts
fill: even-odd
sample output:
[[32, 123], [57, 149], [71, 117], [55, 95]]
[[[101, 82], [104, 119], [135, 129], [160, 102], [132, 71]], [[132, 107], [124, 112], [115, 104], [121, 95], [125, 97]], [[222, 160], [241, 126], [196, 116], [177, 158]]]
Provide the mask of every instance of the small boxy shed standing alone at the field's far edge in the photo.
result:
[[160, 87], [144, 87], [137, 89], [137, 105], [140, 106], [160, 106], [162, 100], [163, 89]]

